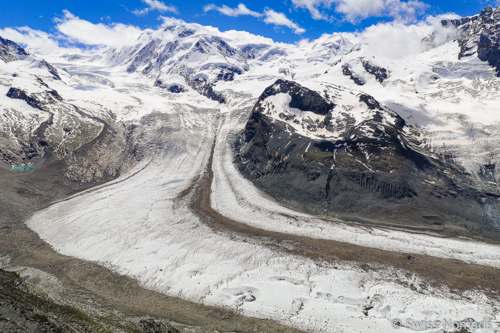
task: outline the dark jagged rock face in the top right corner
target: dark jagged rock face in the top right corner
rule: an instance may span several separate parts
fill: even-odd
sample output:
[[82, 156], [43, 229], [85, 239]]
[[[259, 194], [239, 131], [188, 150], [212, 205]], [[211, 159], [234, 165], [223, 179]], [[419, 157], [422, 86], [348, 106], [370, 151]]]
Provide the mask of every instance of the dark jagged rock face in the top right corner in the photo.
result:
[[494, 67], [496, 76], [500, 76], [500, 7], [493, 10], [487, 6], [479, 15], [442, 20], [441, 24], [458, 30], [458, 59], [475, 54]]

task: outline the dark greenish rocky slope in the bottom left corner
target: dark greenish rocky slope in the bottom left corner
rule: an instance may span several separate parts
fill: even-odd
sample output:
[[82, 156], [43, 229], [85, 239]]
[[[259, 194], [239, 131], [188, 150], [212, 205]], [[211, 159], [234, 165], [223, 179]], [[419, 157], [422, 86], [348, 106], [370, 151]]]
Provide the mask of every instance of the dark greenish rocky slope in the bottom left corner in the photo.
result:
[[128, 321], [45, 293], [15, 272], [0, 269], [0, 331], [17, 332], [143, 332], [177, 333], [168, 323], [145, 318]]

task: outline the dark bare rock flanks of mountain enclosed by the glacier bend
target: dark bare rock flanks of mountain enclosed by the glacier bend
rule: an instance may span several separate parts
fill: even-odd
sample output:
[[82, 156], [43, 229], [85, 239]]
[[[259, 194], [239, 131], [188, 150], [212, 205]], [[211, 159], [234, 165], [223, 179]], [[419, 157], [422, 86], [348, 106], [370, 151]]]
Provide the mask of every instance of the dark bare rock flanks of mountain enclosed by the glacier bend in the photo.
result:
[[402, 118], [390, 113], [395, 121], [384, 120], [391, 111], [373, 97], [358, 94], [373, 110], [371, 118], [342, 123], [346, 130], [339, 138], [318, 140], [261, 112], [263, 99], [286, 89], [290, 96], [303, 91], [308, 102], [301, 103], [302, 110], [324, 113], [330, 103], [289, 81], [265, 89], [246, 123], [236, 161], [259, 189], [287, 207], [329, 218], [500, 236], [497, 189], [431, 157], [404, 130]]

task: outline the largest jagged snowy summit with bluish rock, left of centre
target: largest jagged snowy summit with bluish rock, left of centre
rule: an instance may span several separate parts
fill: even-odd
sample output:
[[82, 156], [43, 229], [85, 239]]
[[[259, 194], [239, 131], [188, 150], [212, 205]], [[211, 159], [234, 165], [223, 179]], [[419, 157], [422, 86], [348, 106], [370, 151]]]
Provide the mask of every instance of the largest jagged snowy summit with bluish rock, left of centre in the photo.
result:
[[[141, 34], [132, 47], [113, 50], [108, 59], [128, 73], [154, 77], [154, 85], [179, 93], [194, 89], [206, 97], [223, 102], [213, 90], [217, 81], [230, 81], [248, 70], [248, 54], [254, 57], [262, 48], [229, 45], [212, 29], [181, 23]], [[218, 30], [217, 30], [218, 31]], [[258, 51], [256, 51], [258, 49]]]

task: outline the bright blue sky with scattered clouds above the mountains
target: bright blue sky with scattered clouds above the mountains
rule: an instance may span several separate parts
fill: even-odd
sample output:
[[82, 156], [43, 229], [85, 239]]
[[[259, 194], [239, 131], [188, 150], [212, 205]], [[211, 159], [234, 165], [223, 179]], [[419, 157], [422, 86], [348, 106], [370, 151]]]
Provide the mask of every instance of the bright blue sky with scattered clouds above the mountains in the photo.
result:
[[[356, 31], [399, 20], [414, 22], [425, 15], [479, 13], [495, 0], [86, 0], [3, 2], [0, 28], [29, 26], [56, 34], [57, 17], [67, 10], [92, 23], [124, 23], [156, 28], [159, 15], [212, 25], [220, 30], [246, 30], [276, 41], [313, 39], [323, 32]], [[239, 7], [238, 7], [239, 5]]]

